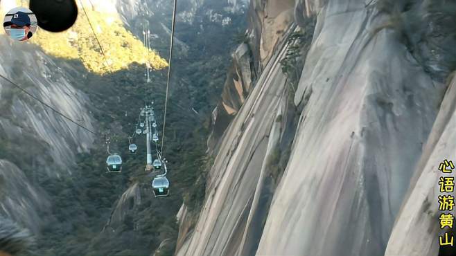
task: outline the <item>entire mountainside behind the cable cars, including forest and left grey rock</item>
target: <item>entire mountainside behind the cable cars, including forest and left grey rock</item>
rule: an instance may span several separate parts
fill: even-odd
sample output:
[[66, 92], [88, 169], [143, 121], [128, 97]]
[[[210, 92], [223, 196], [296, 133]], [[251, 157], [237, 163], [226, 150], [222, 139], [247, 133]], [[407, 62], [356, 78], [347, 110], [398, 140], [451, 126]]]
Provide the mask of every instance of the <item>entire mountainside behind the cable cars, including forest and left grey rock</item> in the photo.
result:
[[[149, 21], [152, 48], [159, 53], [168, 51], [167, 28], [172, 10], [168, 1], [92, 2], [93, 9], [84, 1], [89, 16], [95, 17], [91, 21], [106, 17], [99, 15], [98, 3], [109, 7], [109, 15], [119, 15], [125, 22], [125, 26], [116, 24], [115, 32], [128, 37], [136, 50], [143, 38], [142, 25]], [[184, 3], [178, 13], [187, 10]], [[188, 5], [192, 6], [193, 1]], [[0, 80], [0, 214], [33, 230], [38, 254], [169, 255], [175, 250], [175, 214], [182, 201], [191, 205], [202, 196], [195, 181], [200, 177], [200, 165], [206, 161], [206, 119], [225, 80], [227, 63], [223, 60], [235, 46], [238, 30], [245, 28], [244, 19], [240, 19], [245, 11], [242, 6], [241, 1], [201, 1], [192, 10], [194, 15], [202, 15], [198, 22], [177, 19], [177, 41], [182, 40], [186, 47], [177, 44], [174, 52], [165, 147], [172, 189], [164, 200], [152, 197], [152, 177], [144, 172], [143, 141], [137, 141], [136, 156], [125, 154], [128, 135], [135, 128], [137, 111], [145, 100], [155, 100], [160, 120], [163, 114], [166, 72], [151, 71], [152, 82], [146, 82], [141, 63], [147, 51], [110, 49], [107, 40], [100, 37], [107, 55], [117, 49], [125, 57], [116, 59], [118, 65], [111, 72], [104, 66], [91, 30], [78, 27], [78, 38], [94, 46], [75, 44], [72, 50], [80, 51], [67, 47], [74, 33], [55, 35], [65, 44], [52, 40], [19, 44], [0, 35], [1, 48], [11, 50], [0, 51], [2, 75], [100, 132], [91, 136], [69, 125]], [[145, 12], [149, 10], [156, 14]], [[103, 24], [100, 29], [105, 29]], [[68, 51], [87, 58], [73, 60], [76, 55], [55, 55]], [[109, 135], [112, 149], [123, 155], [123, 174], [105, 174], [107, 153], [101, 134]]]

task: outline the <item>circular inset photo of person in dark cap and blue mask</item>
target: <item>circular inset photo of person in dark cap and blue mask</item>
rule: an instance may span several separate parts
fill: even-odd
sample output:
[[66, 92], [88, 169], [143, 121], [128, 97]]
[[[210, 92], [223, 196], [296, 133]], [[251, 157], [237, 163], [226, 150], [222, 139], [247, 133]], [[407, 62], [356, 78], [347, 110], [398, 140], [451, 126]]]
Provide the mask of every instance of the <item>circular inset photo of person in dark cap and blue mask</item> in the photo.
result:
[[3, 19], [3, 28], [12, 39], [26, 41], [38, 29], [37, 17], [31, 10], [17, 7], [6, 13], [5, 19]]

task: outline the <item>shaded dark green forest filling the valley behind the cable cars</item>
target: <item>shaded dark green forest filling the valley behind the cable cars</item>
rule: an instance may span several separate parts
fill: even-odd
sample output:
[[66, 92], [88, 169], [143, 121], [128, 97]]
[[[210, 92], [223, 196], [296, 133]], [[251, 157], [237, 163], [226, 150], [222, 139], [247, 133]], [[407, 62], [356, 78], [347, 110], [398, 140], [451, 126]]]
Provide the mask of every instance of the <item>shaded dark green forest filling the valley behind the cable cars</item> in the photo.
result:
[[[178, 30], [182, 26], [177, 26]], [[166, 72], [151, 73], [152, 82], [146, 83], [139, 64], [101, 76], [87, 74], [85, 66], [71, 63], [67, 72], [76, 71], [75, 80], [89, 95], [98, 131], [108, 134], [112, 151], [123, 156], [123, 172], [105, 173], [104, 140], [96, 138], [91, 152], [78, 155], [72, 176], [42, 179], [40, 184], [51, 196], [53, 208], [40, 237], [40, 255], [150, 255], [166, 239], [168, 242], [157, 254], [173, 255], [178, 234], [175, 215], [182, 202], [198, 212], [204, 201], [206, 173], [213, 158], [205, 156], [209, 131], [203, 124], [218, 102], [229, 64], [225, 61], [229, 59], [229, 49], [222, 42], [229, 42], [232, 34], [220, 34], [220, 29], [234, 30], [217, 24], [208, 24], [207, 29], [209, 37], [220, 42], [213, 44], [208, 38], [195, 37], [194, 28], [177, 32], [177, 37], [191, 44], [191, 50], [185, 57], [179, 51], [175, 53], [181, 57], [173, 66], [166, 117], [164, 151], [170, 170], [170, 196], [166, 199], [152, 196], [151, 178], [144, 172], [146, 145], [142, 137], [135, 141], [137, 154], [126, 153], [127, 138], [145, 101], [155, 101], [157, 119], [163, 120]], [[205, 48], [203, 55], [201, 46]], [[55, 62], [69, 63], [61, 59]], [[86, 73], [87, 77], [78, 73]], [[105, 227], [117, 200], [133, 183], [141, 187], [141, 205], [131, 204], [122, 223]], [[103, 228], [105, 231], [100, 232]]]

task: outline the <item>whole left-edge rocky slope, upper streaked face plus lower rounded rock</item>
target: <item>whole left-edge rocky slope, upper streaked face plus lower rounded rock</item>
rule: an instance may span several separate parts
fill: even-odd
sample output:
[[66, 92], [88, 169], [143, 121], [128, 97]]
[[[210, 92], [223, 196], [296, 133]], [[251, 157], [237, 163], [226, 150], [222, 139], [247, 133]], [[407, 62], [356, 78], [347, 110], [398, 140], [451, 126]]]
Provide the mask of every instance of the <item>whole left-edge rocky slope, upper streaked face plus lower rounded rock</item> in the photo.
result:
[[[87, 95], [73, 86], [74, 74], [53, 72], [67, 67], [58, 66], [36, 46], [11, 44], [5, 37], [0, 37], [0, 46], [10, 49], [0, 51], [2, 75], [94, 129]], [[47, 177], [71, 175], [76, 154], [87, 152], [94, 138], [5, 80], [0, 84], [0, 177], [6, 193], [1, 194], [0, 211], [36, 232], [41, 223], [37, 216], [49, 210], [38, 183]]]

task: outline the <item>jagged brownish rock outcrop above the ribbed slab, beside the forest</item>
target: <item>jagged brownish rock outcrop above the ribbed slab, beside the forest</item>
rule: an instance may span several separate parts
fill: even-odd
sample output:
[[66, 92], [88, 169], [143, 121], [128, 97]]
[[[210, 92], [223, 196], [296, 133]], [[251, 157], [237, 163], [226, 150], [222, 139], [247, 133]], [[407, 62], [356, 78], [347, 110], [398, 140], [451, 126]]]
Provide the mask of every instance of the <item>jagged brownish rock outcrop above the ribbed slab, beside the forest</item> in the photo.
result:
[[245, 39], [232, 55], [232, 64], [223, 86], [222, 100], [214, 109], [212, 134], [208, 140], [213, 149], [233, 116], [238, 113], [266, 62], [270, 60], [292, 23], [294, 0], [251, 1], [249, 28]]

